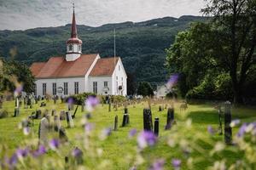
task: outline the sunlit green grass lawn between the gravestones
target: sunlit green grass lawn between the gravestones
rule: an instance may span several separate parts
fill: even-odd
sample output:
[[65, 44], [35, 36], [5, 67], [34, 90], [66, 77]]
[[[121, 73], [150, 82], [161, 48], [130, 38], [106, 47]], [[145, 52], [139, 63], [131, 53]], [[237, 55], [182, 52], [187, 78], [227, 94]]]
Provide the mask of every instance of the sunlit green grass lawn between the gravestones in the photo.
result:
[[[14, 151], [20, 144], [23, 144], [23, 141], [26, 141], [28, 137], [24, 136], [22, 131], [18, 129], [18, 123], [30, 116], [32, 111], [36, 111], [39, 109], [38, 105], [34, 105], [32, 109], [25, 110], [23, 105], [21, 106], [20, 116], [12, 117], [14, 114], [14, 105], [15, 102], [5, 102], [3, 104], [3, 109], [9, 112], [9, 117], [0, 119], [0, 143], [6, 144], [9, 147], [9, 152]], [[146, 105], [146, 103], [144, 104]], [[138, 131], [143, 130], [143, 104], [136, 105], [133, 107], [132, 105], [128, 107], [130, 113], [130, 124], [127, 127], [119, 127], [119, 130], [113, 132], [108, 139], [100, 140], [95, 136], [95, 145], [97, 148], [102, 148], [102, 157], [108, 163], [108, 169], [129, 169], [132, 167], [131, 157], [137, 153], [137, 140], [129, 139], [128, 134], [131, 129], [136, 128]], [[192, 128], [191, 130], [183, 131], [181, 135], [184, 136], [194, 136], [197, 133], [202, 133], [205, 135], [205, 138], [212, 138], [213, 141], [224, 140], [224, 136], [219, 136], [215, 134], [213, 137], [210, 137], [207, 132], [208, 125], [211, 125], [214, 128], [218, 128], [218, 113], [215, 109], [213, 109], [212, 105], [189, 105], [189, 109], [186, 113], [180, 113], [178, 107], [179, 103], [175, 104], [175, 119], [177, 120], [178, 125], [185, 126], [185, 121], [183, 116], [191, 118], [192, 120]], [[51, 112], [52, 109], [56, 111], [67, 111], [66, 104], [60, 104], [58, 101], [57, 105], [53, 104], [53, 101], [47, 103], [47, 107], [45, 107]], [[44, 109], [45, 109], [44, 108]], [[40, 108], [43, 110], [43, 108]], [[113, 110], [113, 109], [112, 109]], [[90, 122], [95, 123], [95, 133], [99, 134], [102, 132], [102, 129], [106, 127], [113, 127], [114, 116], [119, 116], [119, 125], [121, 125], [123, 118], [123, 108], [119, 108], [118, 111], [108, 112], [108, 105], [99, 105], [96, 111], [93, 112], [92, 118]], [[182, 152], [179, 148], [172, 148], [166, 144], [167, 136], [172, 133], [173, 130], [165, 131], [164, 127], [166, 125], [166, 110], [158, 111], [158, 105], [152, 106], [153, 118], [160, 118], [160, 136], [158, 139], [158, 144], [154, 147], [147, 148], [143, 150], [143, 157], [145, 162], [142, 166], [138, 167], [138, 169], [146, 169], [152, 161], [147, 160], [155, 160], [157, 158], [165, 158], [166, 159], [166, 169], [172, 169], [172, 158], [179, 158], [182, 162], [186, 161], [186, 158], [182, 155]], [[81, 108], [79, 107], [76, 118], [74, 119], [75, 127], [74, 128], [66, 128], [67, 136], [70, 140], [70, 145], [64, 146], [67, 147], [67, 151], [71, 150], [74, 146], [80, 143], [79, 141], [79, 133], [83, 133], [84, 129], [80, 126], [80, 121], [84, 113], [81, 112]], [[232, 108], [232, 119], [239, 118], [242, 122], [253, 122], [256, 120], [256, 108], [255, 107], [239, 107]], [[33, 135], [38, 135], [38, 124], [39, 120], [35, 120], [33, 129]], [[61, 122], [61, 125], [67, 127], [67, 122]], [[233, 135], [236, 135], [237, 128], [233, 129]], [[204, 150], [212, 150], [212, 146], [208, 144], [206, 141], [197, 141], [198, 144]], [[229, 146], [232, 147], [232, 146]], [[51, 155], [52, 153], [49, 153]], [[196, 151], [192, 153], [195, 157], [201, 156], [200, 151]], [[54, 155], [54, 154], [52, 154]], [[64, 160], [64, 156], [63, 160]], [[242, 154], [231, 152], [230, 150], [226, 150], [224, 155], [218, 155], [217, 159], [221, 159], [222, 157], [227, 157], [228, 163], [233, 163], [237, 159], [239, 159]], [[97, 164], [97, 161], [86, 160], [86, 163], [91, 169], [95, 169], [94, 167]], [[203, 169], [209, 164], [210, 161], [198, 161], [195, 164], [195, 169]], [[184, 163], [182, 165], [182, 169], [187, 169], [188, 166]]]

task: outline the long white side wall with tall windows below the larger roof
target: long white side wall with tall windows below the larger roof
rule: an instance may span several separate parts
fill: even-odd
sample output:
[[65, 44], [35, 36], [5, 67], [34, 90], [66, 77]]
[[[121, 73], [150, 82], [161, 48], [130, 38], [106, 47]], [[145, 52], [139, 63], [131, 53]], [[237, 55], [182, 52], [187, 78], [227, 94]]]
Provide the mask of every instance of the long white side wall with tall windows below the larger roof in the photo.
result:
[[[70, 78], [58, 78], [58, 79], [39, 79], [35, 83], [37, 84], [37, 96], [43, 96], [43, 83], [46, 83], [46, 94], [53, 94], [53, 83], [56, 83], [56, 88], [64, 89], [64, 82], [67, 82], [67, 95], [74, 94], [74, 82], [79, 82], [79, 93], [85, 92], [85, 79], [84, 77], [70, 77]], [[62, 93], [64, 95], [64, 92]], [[57, 95], [59, 95], [57, 93]]]

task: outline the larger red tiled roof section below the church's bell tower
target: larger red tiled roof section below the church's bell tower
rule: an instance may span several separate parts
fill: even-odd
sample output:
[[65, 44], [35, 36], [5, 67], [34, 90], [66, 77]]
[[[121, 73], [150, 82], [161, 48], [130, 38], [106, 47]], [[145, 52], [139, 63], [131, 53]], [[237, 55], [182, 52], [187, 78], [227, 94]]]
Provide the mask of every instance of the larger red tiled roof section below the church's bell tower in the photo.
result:
[[66, 61], [65, 57], [51, 57], [41, 68], [30, 67], [36, 78], [84, 77], [98, 54], [82, 54], [79, 59]]

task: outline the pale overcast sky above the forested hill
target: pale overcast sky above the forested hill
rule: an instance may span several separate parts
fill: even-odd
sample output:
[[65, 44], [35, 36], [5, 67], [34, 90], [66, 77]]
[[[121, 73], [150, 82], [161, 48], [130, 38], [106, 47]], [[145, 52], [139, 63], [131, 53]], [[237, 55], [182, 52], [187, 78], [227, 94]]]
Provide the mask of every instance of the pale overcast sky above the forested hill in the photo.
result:
[[[64, 26], [72, 20], [73, 0], [0, 0], [0, 30]], [[203, 0], [74, 0], [77, 23], [102, 26], [181, 15], [201, 15]]]

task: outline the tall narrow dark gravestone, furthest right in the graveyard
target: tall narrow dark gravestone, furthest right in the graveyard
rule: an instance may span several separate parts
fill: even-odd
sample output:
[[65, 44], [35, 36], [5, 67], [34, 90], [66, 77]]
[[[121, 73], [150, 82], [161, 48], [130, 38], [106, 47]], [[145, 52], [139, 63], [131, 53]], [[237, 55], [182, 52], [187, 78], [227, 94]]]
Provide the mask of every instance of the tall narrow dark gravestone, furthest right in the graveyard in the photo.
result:
[[229, 101], [224, 103], [224, 141], [226, 144], [232, 143], [232, 128], [231, 122], [231, 103]]

